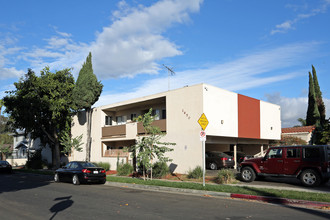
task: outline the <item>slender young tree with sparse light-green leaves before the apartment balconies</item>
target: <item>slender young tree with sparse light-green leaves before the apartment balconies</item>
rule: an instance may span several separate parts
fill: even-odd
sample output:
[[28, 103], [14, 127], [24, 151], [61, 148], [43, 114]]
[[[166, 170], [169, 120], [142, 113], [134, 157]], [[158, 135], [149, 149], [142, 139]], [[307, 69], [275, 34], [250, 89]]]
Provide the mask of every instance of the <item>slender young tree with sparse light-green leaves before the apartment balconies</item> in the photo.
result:
[[157, 158], [160, 162], [171, 161], [170, 158], [165, 157], [165, 153], [173, 151], [172, 148], [167, 146], [175, 145], [175, 143], [160, 142], [161, 138], [164, 137], [159, 127], [153, 126], [152, 122], [155, 117], [152, 116], [152, 109], [143, 116], [140, 115], [137, 119], [138, 122], [142, 123], [145, 130], [146, 136], [139, 139], [132, 147], [133, 152], [137, 152], [137, 165], [143, 167], [143, 178], [145, 180], [146, 170], [151, 169], [151, 179], [152, 179], [152, 165], [153, 159]]

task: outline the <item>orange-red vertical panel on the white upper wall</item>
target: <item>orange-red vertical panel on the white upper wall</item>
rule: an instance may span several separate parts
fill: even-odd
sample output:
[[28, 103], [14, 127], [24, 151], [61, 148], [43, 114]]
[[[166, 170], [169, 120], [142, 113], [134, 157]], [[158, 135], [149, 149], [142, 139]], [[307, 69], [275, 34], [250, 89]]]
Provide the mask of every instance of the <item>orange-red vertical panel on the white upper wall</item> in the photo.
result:
[[238, 94], [238, 137], [260, 139], [260, 100]]

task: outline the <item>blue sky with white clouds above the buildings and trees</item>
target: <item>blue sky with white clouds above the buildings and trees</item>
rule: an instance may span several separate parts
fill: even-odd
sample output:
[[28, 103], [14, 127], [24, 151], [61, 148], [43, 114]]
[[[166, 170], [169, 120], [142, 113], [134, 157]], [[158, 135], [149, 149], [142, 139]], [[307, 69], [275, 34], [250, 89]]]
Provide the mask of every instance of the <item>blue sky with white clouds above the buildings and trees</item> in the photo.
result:
[[207, 83], [299, 125], [312, 65], [330, 115], [329, 22], [330, 0], [0, 0], [0, 98], [28, 68], [77, 78], [92, 52], [95, 106]]

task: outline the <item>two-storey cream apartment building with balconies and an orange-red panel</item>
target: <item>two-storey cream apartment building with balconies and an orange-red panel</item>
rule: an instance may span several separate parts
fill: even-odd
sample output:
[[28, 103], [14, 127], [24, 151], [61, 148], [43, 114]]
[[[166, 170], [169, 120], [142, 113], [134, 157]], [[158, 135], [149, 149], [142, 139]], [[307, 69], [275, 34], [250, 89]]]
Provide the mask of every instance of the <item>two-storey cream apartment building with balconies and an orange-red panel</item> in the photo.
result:
[[[111, 101], [111, 100], [109, 100]], [[226, 91], [207, 84], [101, 106], [92, 115], [92, 162], [109, 162], [116, 169], [119, 162], [134, 163], [124, 147], [143, 137], [144, 129], [134, 118], [153, 109], [154, 125], [166, 135], [163, 141], [176, 143], [167, 156], [177, 173], [187, 173], [202, 166], [201, 127], [204, 113], [209, 121], [206, 151], [243, 151], [254, 155], [263, 152], [270, 140], [280, 140], [280, 106]], [[74, 117], [73, 137], [83, 134], [86, 143], [86, 118], [81, 112]], [[84, 149], [85, 144], [83, 145]], [[85, 160], [85, 151], [74, 151], [70, 160]]]

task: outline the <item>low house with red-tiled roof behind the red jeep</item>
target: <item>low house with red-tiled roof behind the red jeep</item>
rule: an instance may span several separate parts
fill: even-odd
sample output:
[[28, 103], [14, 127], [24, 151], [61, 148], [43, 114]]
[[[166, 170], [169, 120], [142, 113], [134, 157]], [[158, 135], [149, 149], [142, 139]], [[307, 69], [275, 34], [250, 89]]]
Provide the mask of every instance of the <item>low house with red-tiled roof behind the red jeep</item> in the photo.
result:
[[312, 137], [314, 130], [315, 130], [315, 126], [282, 128], [282, 135], [298, 137], [306, 141], [306, 144], [312, 144]]

